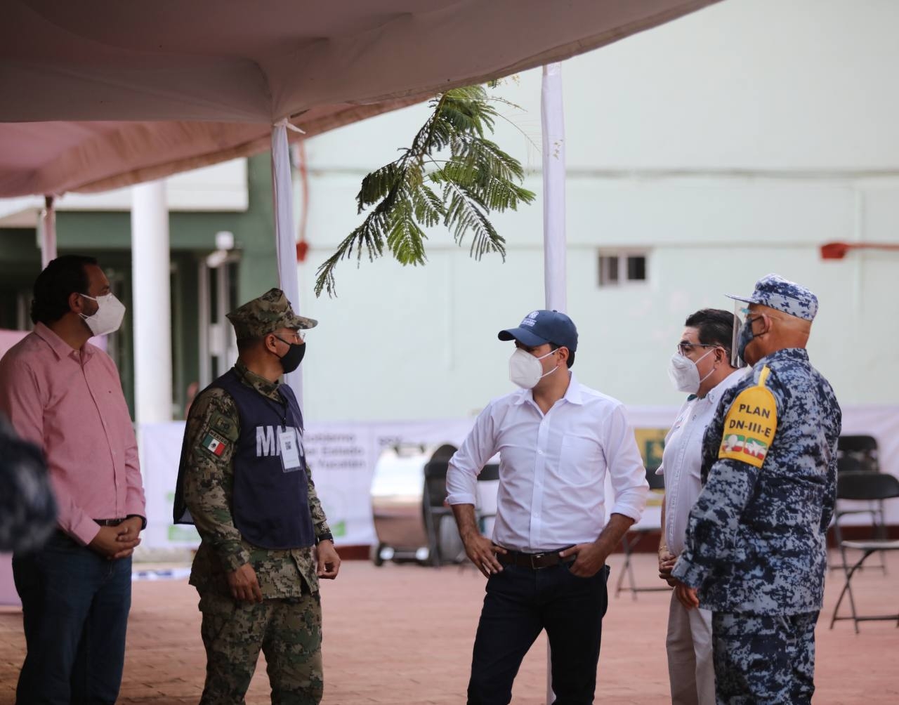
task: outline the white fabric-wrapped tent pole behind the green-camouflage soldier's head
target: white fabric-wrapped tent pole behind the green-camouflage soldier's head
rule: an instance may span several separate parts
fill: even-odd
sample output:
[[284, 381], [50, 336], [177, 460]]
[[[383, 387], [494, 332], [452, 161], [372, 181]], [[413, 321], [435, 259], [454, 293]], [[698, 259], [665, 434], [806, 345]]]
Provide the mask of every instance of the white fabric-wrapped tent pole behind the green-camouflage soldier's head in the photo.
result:
[[[280, 290], [299, 314], [299, 284], [297, 276], [297, 236], [293, 222], [293, 183], [290, 177], [290, 147], [287, 140], [287, 120], [280, 120], [271, 128], [271, 185], [274, 195], [275, 237], [278, 244], [278, 280]], [[298, 400], [303, 400], [303, 376], [300, 370], [284, 375]]]

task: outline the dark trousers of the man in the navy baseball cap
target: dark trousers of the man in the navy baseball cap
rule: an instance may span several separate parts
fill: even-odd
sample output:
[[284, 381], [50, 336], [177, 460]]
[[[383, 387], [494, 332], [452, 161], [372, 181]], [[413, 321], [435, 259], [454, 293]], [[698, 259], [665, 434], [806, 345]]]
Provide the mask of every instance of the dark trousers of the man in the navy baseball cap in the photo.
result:
[[521, 659], [541, 630], [552, 650], [556, 705], [590, 705], [596, 689], [609, 568], [589, 578], [567, 565], [504, 566], [487, 580], [468, 683], [468, 705], [507, 705]]

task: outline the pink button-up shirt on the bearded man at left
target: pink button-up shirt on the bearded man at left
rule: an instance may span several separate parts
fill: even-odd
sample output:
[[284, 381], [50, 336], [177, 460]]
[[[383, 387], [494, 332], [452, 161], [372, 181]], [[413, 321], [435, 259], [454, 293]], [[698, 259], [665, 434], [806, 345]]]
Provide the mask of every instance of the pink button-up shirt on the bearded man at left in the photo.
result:
[[63, 531], [87, 544], [94, 519], [147, 515], [138, 442], [105, 352], [73, 350], [39, 323], [0, 360], [0, 410], [43, 449]]

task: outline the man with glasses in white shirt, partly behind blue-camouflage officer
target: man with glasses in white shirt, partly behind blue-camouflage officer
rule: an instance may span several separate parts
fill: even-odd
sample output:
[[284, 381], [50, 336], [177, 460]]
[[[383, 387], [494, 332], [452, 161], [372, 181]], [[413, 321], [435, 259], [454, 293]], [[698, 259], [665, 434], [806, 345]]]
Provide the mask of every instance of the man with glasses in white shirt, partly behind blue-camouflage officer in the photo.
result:
[[[665, 478], [659, 576], [669, 585], [676, 584], [672, 567], [684, 549], [690, 509], [702, 489], [699, 470], [706, 427], [721, 395], [746, 373], [731, 365], [733, 313], [703, 308], [688, 317], [684, 326], [669, 376], [675, 388], [690, 396], [665, 437], [662, 466], [657, 470]], [[666, 646], [672, 705], [715, 705], [712, 613], [699, 609], [695, 595], [681, 585], [672, 593]]]

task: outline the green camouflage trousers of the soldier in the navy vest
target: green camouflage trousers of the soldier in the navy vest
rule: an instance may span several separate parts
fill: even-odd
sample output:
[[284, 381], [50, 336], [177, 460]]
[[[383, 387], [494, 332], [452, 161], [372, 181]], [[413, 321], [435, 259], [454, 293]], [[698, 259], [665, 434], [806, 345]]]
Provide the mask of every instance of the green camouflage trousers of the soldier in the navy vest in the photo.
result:
[[262, 649], [272, 705], [322, 700], [322, 609], [319, 593], [237, 602], [200, 593], [206, 686], [200, 705], [243, 705]]

